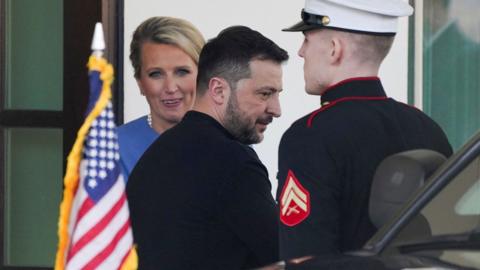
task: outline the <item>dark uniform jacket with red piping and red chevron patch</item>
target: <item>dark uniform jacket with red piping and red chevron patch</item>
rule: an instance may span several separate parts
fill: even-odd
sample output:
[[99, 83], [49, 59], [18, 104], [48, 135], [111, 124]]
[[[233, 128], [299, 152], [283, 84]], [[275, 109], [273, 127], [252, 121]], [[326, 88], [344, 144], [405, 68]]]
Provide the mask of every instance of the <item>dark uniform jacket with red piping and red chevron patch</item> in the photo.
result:
[[442, 129], [387, 98], [377, 77], [330, 87], [322, 107], [297, 120], [280, 142], [280, 257], [362, 247], [376, 231], [368, 216], [375, 169], [385, 157], [416, 148], [452, 153]]

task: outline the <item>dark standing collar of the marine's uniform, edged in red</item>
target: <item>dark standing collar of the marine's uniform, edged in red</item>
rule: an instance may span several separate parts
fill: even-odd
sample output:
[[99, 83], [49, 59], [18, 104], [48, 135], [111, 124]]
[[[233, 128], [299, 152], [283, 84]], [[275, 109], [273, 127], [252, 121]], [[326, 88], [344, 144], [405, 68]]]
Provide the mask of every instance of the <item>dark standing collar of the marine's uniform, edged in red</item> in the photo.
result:
[[355, 77], [329, 86], [322, 94], [322, 106], [345, 98], [386, 97], [382, 83], [378, 77]]

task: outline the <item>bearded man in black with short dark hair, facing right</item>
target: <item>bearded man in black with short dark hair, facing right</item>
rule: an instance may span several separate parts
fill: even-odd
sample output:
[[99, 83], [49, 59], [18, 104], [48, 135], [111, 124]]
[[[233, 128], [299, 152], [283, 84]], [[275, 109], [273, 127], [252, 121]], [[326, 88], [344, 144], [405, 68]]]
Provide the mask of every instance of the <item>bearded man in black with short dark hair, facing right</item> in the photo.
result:
[[235, 26], [200, 54], [192, 111], [127, 184], [140, 269], [245, 269], [278, 260], [277, 206], [250, 144], [280, 116], [286, 51]]

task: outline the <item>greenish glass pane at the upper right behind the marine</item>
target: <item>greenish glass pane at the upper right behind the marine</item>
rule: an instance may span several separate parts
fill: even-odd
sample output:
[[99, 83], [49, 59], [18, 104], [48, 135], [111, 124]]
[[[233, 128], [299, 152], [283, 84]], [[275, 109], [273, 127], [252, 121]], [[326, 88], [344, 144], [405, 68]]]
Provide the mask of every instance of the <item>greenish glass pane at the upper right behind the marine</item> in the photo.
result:
[[458, 149], [480, 128], [480, 1], [423, 1], [423, 109]]

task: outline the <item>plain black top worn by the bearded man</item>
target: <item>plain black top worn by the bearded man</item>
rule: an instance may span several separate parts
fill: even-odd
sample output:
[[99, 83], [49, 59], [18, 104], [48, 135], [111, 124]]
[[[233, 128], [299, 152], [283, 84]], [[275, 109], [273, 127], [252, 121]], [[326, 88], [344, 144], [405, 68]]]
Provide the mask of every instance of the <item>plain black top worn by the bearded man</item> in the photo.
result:
[[140, 269], [244, 269], [278, 260], [266, 168], [210, 116], [188, 112], [127, 183]]

